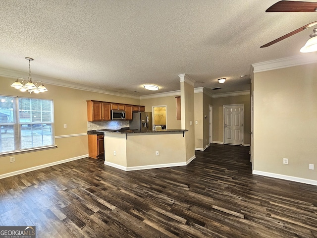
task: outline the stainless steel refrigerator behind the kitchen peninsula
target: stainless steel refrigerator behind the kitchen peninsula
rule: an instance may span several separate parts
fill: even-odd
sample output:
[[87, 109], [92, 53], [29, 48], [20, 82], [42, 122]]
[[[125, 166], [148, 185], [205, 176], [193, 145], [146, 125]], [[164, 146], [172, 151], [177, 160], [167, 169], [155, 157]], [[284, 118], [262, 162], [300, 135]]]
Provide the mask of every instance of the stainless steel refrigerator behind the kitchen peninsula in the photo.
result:
[[153, 130], [152, 113], [137, 112], [133, 113], [130, 121], [130, 129], [137, 129], [139, 131]]

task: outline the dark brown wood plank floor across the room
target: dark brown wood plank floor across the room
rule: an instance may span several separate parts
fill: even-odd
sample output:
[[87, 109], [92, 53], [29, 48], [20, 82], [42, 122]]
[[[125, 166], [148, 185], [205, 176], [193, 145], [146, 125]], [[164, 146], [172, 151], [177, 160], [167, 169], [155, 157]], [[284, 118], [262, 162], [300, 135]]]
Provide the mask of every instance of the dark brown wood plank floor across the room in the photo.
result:
[[0, 179], [0, 226], [37, 238], [317, 238], [317, 186], [251, 173], [249, 147], [124, 172], [84, 158]]

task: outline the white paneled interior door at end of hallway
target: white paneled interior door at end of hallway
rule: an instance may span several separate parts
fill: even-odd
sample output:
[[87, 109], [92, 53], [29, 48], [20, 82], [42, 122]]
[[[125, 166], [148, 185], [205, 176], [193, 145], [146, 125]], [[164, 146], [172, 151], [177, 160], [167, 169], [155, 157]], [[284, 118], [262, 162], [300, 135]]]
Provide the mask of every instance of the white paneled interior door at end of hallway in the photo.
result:
[[243, 144], [243, 104], [223, 105], [224, 144]]

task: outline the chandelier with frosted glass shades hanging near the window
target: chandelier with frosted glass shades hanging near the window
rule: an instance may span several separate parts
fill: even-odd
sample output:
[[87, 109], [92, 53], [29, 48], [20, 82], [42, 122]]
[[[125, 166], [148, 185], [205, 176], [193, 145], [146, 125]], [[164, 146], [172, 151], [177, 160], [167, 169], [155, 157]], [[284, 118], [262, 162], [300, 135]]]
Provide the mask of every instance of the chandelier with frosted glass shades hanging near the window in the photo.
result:
[[43, 93], [48, 91], [41, 81], [32, 82], [30, 61], [33, 59], [29, 57], [26, 57], [25, 59], [29, 60], [28, 80], [25, 80], [24, 78], [17, 78], [16, 81], [11, 84], [11, 87], [20, 90], [21, 92], [28, 91], [29, 93]]

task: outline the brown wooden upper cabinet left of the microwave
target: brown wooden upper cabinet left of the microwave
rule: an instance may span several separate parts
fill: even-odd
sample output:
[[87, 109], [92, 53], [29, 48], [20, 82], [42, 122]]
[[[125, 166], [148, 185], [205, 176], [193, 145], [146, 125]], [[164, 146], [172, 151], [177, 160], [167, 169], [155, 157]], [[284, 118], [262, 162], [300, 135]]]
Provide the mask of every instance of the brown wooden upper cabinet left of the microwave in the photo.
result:
[[100, 101], [87, 101], [87, 119], [88, 121], [110, 120], [110, 103]]

